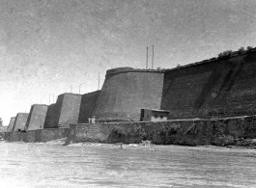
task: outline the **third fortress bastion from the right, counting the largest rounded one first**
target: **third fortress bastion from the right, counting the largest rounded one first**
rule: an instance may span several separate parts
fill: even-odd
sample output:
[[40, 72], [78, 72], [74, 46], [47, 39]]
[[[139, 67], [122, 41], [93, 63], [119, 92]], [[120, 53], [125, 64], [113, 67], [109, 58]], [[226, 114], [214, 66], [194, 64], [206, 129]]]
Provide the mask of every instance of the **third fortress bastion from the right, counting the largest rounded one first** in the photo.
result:
[[28, 121], [26, 123], [27, 130], [42, 129], [45, 121], [48, 106], [45, 104], [34, 104], [31, 106]]

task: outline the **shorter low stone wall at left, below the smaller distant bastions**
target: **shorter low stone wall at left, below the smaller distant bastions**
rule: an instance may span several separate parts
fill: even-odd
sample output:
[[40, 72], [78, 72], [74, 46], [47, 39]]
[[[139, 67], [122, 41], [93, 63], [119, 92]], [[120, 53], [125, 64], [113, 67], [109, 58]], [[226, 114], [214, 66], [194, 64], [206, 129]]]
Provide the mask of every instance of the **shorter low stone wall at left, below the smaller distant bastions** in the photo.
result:
[[6, 132], [7, 142], [43, 143], [67, 137], [69, 128], [28, 130], [27, 132]]

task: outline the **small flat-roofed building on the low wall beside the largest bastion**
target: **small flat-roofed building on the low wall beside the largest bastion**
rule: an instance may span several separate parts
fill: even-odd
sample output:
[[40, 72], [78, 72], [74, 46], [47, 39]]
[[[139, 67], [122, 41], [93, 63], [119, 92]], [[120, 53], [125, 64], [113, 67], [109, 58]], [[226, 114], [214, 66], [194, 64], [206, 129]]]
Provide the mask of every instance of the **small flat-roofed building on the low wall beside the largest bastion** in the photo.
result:
[[157, 109], [141, 109], [140, 121], [167, 121], [169, 111]]

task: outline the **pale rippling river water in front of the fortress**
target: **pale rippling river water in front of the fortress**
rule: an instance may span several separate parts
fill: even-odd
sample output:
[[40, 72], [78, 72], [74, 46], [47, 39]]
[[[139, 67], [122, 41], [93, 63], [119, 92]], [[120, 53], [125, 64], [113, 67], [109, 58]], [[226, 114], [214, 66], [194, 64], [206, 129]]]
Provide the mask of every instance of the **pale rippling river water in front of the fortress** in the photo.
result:
[[256, 187], [256, 149], [0, 143], [0, 187]]

